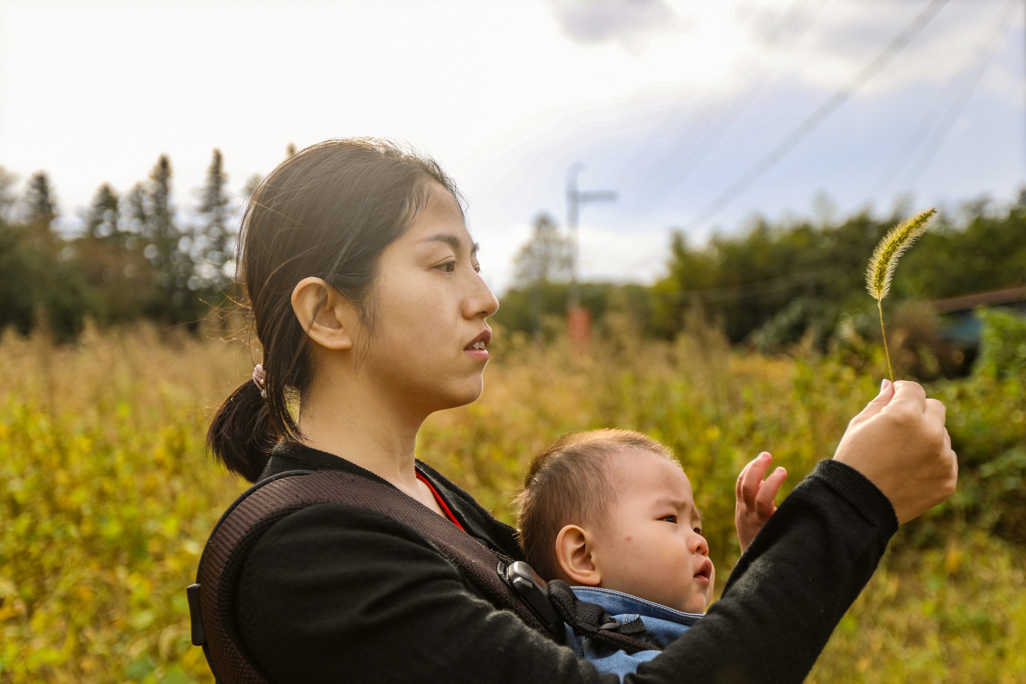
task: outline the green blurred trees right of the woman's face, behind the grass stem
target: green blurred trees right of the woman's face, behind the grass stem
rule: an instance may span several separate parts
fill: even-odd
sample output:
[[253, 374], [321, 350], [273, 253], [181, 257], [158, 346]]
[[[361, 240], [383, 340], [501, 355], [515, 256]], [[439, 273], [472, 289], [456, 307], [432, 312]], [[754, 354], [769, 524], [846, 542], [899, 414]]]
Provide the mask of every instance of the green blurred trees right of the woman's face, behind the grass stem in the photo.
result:
[[[599, 321], [613, 310], [628, 313], [640, 332], [657, 337], [677, 334], [694, 307], [717, 320], [733, 343], [762, 349], [803, 335], [823, 348], [842, 324], [873, 337], [878, 324], [866, 293], [866, 264], [905, 213], [897, 209], [874, 216], [866, 209], [840, 219], [777, 222], [758, 216], [747, 230], [718, 233], [703, 244], [673, 231], [666, 275], [659, 281], [650, 286], [584, 283], [582, 301]], [[568, 250], [553, 219], [540, 215], [517, 255], [515, 285], [497, 320], [535, 334], [558, 329], [566, 308]], [[930, 301], [1023, 284], [1026, 190], [1005, 204], [985, 198], [940, 212], [903, 257], [892, 296], [906, 304]]]

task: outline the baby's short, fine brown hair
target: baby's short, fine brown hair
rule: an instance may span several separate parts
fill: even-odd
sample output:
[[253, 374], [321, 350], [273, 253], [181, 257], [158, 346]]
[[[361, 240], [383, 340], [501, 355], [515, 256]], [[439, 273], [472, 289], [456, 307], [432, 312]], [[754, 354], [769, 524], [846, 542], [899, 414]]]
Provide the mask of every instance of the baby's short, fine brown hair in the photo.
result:
[[607, 457], [632, 448], [677, 460], [669, 447], [641, 433], [593, 430], [563, 435], [531, 461], [514, 505], [524, 557], [543, 577], [560, 575], [555, 549], [559, 530], [565, 525], [604, 526], [603, 512], [617, 501]]

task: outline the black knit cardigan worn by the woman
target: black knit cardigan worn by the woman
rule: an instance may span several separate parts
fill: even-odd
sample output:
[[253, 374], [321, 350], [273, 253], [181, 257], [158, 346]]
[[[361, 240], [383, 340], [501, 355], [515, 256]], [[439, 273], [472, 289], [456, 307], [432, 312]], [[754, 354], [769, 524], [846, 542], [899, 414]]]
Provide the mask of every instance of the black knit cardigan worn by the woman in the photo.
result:
[[[515, 530], [427, 465], [467, 531], [522, 558]], [[264, 476], [355, 464], [279, 445]], [[856, 470], [821, 461], [741, 557], [722, 597], [628, 683], [800, 682], [898, 528]], [[236, 618], [274, 682], [603, 682], [588, 661], [496, 609], [412, 529], [373, 511], [316, 505], [271, 527], [245, 560]]]

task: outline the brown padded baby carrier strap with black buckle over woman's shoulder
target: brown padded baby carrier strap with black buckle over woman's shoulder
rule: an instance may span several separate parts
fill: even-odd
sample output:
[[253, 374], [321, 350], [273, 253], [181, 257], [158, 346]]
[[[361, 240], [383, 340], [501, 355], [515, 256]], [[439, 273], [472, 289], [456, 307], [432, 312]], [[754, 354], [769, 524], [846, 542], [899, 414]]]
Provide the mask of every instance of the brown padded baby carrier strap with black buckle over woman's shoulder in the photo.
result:
[[187, 590], [192, 643], [219, 684], [268, 683], [245, 651], [235, 623], [235, 591], [249, 550], [276, 522], [315, 504], [346, 504], [378, 511], [420, 532], [464, 578], [499, 608], [563, 643], [564, 622], [619, 649], [656, 649], [633, 635], [639, 619], [622, 625], [594, 604], [579, 601], [562, 581], [545, 582], [522, 561], [491, 551], [451, 522], [395, 487], [342, 471], [288, 471], [244, 491], [218, 521], [200, 557], [196, 584]]

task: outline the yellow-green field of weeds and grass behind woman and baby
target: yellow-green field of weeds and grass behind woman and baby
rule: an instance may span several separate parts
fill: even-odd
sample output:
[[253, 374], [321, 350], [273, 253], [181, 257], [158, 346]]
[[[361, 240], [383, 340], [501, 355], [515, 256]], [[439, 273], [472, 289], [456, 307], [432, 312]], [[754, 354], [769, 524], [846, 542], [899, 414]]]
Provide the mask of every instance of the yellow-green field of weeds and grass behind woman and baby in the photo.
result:
[[[738, 555], [738, 470], [768, 449], [792, 486], [832, 453], [879, 377], [829, 359], [742, 356], [699, 326], [673, 345], [609, 328], [614, 339], [587, 355], [498, 336], [483, 397], [432, 416], [420, 454], [512, 522], [527, 460], [559, 434], [644, 431], [679, 452], [722, 585]], [[60, 348], [8, 336], [0, 358], [0, 682], [212, 681], [189, 645], [184, 588], [245, 486], [206, 460], [202, 438], [251, 370], [248, 354], [143, 328]], [[952, 430], [969, 445], [959, 453], [985, 438], [1010, 453], [1023, 443], [1026, 392], [1020, 381], [1010, 396], [1002, 381], [990, 413], [986, 388], [944, 388], [949, 416], [973, 412], [964, 438]], [[979, 508], [994, 499], [985, 454], [974, 457]], [[972, 506], [899, 535], [811, 681], [1023, 680], [1026, 553], [974, 531]]]

